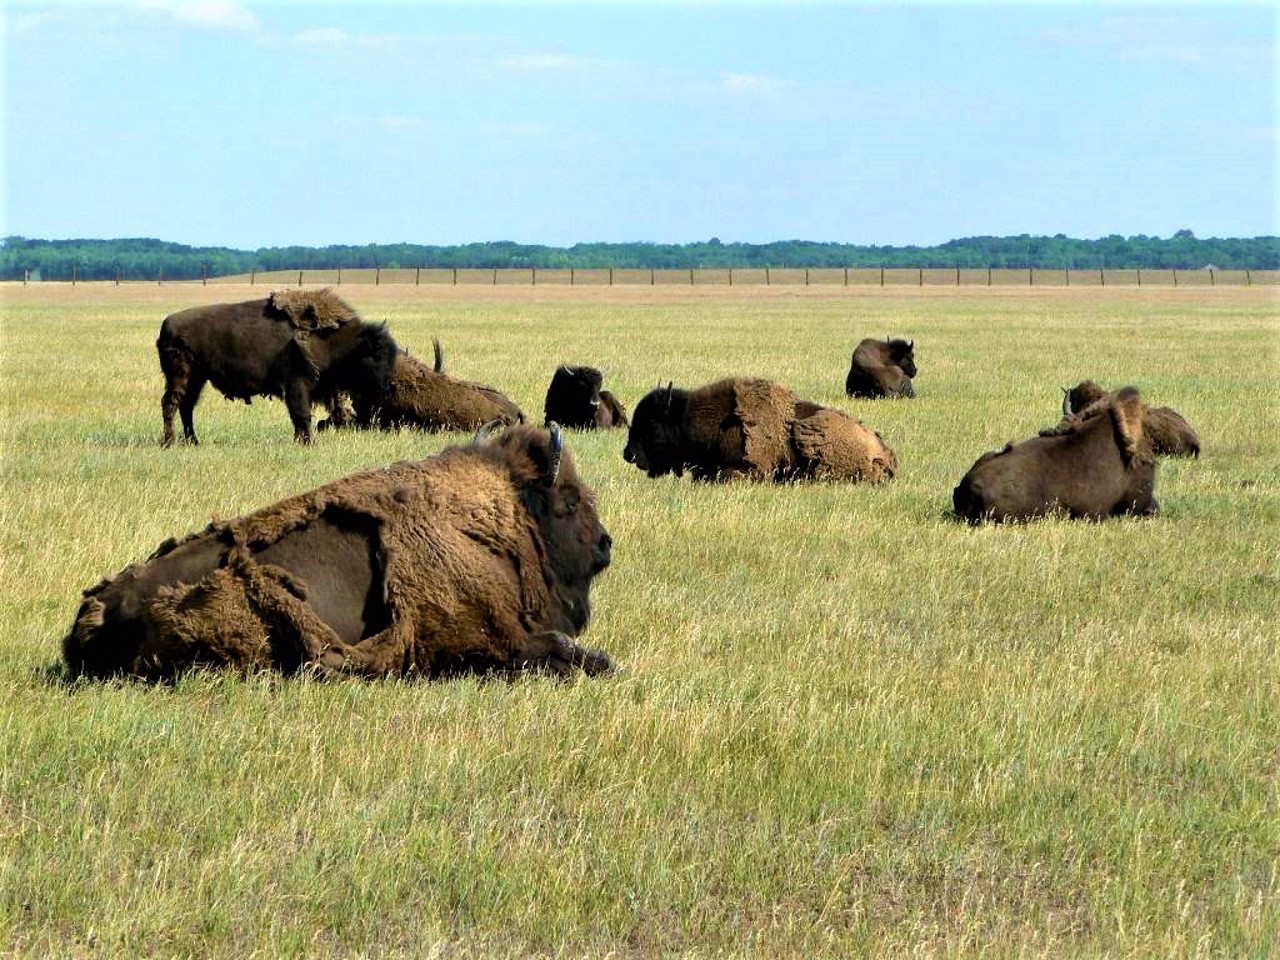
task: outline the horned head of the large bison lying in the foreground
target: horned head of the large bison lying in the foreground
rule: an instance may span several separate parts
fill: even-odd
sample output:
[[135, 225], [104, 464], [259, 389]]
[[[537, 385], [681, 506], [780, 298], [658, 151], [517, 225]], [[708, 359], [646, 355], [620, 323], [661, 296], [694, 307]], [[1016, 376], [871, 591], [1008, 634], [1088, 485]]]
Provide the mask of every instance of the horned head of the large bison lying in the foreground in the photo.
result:
[[521, 502], [538, 526], [567, 623], [559, 628], [577, 634], [588, 623], [591, 579], [613, 559], [613, 538], [600, 522], [595, 492], [581, 479], [573, 456], [564, 449], [559, 425], [549, 430], [512, 426], [489, 440], [481, 429], [477, 443], [492, 448], [511, 471]]

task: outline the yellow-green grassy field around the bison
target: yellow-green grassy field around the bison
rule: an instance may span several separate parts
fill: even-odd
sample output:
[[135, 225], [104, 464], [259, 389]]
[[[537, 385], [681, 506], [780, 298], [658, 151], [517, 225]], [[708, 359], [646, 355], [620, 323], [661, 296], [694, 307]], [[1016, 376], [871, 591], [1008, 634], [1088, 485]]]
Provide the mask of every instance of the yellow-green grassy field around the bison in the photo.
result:
[[[0, 955], [1280, 952], [1280, 321], [1267, 289], [343, 287], [540, 419], [778, 379], [881, 488], [649, 480], [570, 438], [616, 541], [608, 680], [58, 678], [79, 591], [160, 540], [461, 435], [291, 442], [206, 393], [160, 449], [161, 317], [264, 288], [0, 289]], [[919, 397], [851, 401], [863, 335]], [[970, 529], [951, 488], [1134, 383], [1199, 461], [1153, 520]]]

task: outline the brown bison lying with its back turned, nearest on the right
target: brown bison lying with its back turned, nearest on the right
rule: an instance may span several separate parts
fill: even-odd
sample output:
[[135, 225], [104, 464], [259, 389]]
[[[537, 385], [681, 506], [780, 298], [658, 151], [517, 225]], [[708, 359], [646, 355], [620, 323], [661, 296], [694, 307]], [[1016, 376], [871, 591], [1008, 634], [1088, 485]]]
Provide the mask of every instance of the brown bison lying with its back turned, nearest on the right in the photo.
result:
[[984, 453], [951, 495], [957, 516], [1030, 520], [1062, 511], [1071, 517], [1152, 515], [1156, 460], [1133, 387], [1021, 443]]

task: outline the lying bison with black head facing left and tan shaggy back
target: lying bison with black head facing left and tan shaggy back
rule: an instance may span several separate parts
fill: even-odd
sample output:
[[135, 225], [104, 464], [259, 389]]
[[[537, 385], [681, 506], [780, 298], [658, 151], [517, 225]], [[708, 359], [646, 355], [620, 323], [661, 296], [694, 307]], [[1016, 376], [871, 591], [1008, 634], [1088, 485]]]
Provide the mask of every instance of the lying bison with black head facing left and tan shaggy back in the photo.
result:
[[652, 390], [622, 452], [649, 476], [696, 480], [888, 480], [897, 457], [847, 413], [797, 399], [769, 380], [732, 379]]

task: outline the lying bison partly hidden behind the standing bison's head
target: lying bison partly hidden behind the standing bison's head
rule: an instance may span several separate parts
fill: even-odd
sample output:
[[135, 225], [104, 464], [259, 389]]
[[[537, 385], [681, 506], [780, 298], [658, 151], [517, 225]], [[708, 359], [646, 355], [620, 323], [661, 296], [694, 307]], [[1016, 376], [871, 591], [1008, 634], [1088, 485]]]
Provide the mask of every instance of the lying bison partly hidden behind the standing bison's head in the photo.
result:
[[435, 346], [435, 366], [399, 352], [392, 367], [390, 384], [381, 396], [364, 393], [352, 397], [349, 411], [339, 411], [324, 426], [401, 426], [417, 430], [475, 430], [494, 420], [524, 424], [525, 413], [493, 387], [457, 380], [444, 372], [444, 353]]

